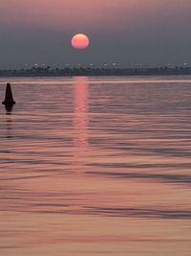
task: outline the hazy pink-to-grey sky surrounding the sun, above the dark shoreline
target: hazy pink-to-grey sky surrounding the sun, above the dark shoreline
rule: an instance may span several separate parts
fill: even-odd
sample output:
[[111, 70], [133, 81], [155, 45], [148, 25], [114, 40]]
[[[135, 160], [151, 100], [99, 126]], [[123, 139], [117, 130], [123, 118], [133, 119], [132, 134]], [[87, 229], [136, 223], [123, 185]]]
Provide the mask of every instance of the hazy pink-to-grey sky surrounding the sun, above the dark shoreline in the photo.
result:
[[[190, 0], [0, 0], [0, 68], [191, 61]], [[90, 37], [88, 49], [71, 37]]]

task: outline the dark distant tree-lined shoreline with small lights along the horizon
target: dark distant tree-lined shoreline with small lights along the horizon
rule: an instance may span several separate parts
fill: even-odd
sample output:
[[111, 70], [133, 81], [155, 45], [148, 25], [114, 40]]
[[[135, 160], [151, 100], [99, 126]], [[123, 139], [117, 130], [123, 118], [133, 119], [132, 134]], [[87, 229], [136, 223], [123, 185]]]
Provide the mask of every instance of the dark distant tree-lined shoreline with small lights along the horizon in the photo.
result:
[[107, 76], [179, 76], [191, 75], [191, 67], [156, 68], [51, 68], [32, 67], [30, 69], [0, 70], [0, 78], [7, 77], [107, 77]]

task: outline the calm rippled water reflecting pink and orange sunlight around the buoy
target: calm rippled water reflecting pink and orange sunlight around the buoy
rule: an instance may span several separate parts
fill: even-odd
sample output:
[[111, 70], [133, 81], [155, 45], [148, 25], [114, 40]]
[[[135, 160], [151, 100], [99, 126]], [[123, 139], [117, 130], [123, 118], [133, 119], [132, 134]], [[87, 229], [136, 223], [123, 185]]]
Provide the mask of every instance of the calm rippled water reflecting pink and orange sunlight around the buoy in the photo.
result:
[[0, 255], [191, 255], [191, 78], [11, 83]]

